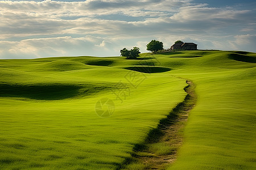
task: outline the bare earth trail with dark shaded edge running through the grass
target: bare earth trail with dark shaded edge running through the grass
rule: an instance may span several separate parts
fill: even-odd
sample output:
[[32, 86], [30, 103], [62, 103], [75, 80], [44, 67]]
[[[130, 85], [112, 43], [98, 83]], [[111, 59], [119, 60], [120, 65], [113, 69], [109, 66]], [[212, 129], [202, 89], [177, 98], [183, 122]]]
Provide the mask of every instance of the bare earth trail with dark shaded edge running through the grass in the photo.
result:
[[[186, 80], [186, 83], [188, 86], [184, 90], [187, 96], [184, 101], [167, 118], [160, 120], [158, 127], [150, 131], [146, 140], [134, 147], [132, 158], [126, 159], [117, 169], [130, 169], [126, 166], [133, 163], [143, 164], [142, 169], [166, 169], [175, 162], [177, 150], [183, 143], [185, 122], [196, 104], [195, 84], [190, 80]], [[160, 147], [155, 149], [155, 146]]]

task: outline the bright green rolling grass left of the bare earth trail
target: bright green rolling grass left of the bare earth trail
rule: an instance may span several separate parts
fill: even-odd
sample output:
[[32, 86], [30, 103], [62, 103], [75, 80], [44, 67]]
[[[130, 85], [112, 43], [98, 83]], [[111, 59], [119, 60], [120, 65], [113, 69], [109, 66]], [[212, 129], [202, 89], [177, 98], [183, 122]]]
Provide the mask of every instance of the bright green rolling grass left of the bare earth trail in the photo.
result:
[[[183, 80], [139, 73], [134, 81], [136, 72], [101, 59], [0, 61], [0, 169], [113, 169], [183, 100]], [[115, 104], [109, 118], [95, 111], [104, 97]]]

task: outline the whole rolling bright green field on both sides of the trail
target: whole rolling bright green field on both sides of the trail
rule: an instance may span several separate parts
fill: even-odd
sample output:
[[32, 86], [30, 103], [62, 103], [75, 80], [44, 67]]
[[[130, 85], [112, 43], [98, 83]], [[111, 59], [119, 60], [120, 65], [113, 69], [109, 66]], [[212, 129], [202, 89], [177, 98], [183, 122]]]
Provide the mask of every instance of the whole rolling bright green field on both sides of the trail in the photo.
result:
[[197, 103], [168, 169], [256, 169], [255, 75], [248, 52], [1, 59], [0, 169], [120, 168], [184, 100], [186, 79]]

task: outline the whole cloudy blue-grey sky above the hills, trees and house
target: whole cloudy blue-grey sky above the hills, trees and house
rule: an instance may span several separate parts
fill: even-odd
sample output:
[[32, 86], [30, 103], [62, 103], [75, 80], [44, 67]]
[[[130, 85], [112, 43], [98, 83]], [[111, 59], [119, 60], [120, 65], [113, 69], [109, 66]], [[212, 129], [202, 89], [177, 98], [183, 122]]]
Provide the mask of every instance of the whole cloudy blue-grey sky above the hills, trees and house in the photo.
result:
[[176, 40], [256, 52], [255, 0], [0, 0], [0, 59], [119, 56]]

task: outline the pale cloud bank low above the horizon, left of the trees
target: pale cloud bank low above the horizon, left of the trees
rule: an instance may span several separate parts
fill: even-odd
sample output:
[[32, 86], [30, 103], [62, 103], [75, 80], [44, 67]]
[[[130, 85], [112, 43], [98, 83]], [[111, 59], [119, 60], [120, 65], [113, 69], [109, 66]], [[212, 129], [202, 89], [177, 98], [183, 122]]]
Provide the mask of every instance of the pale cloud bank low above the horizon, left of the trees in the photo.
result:
[[119, 50], [123, 48], [121, 41], [94, 36], [0, 41], [0, 58], [95, 56], [95, 52], [97, 56], [119, 56]]

